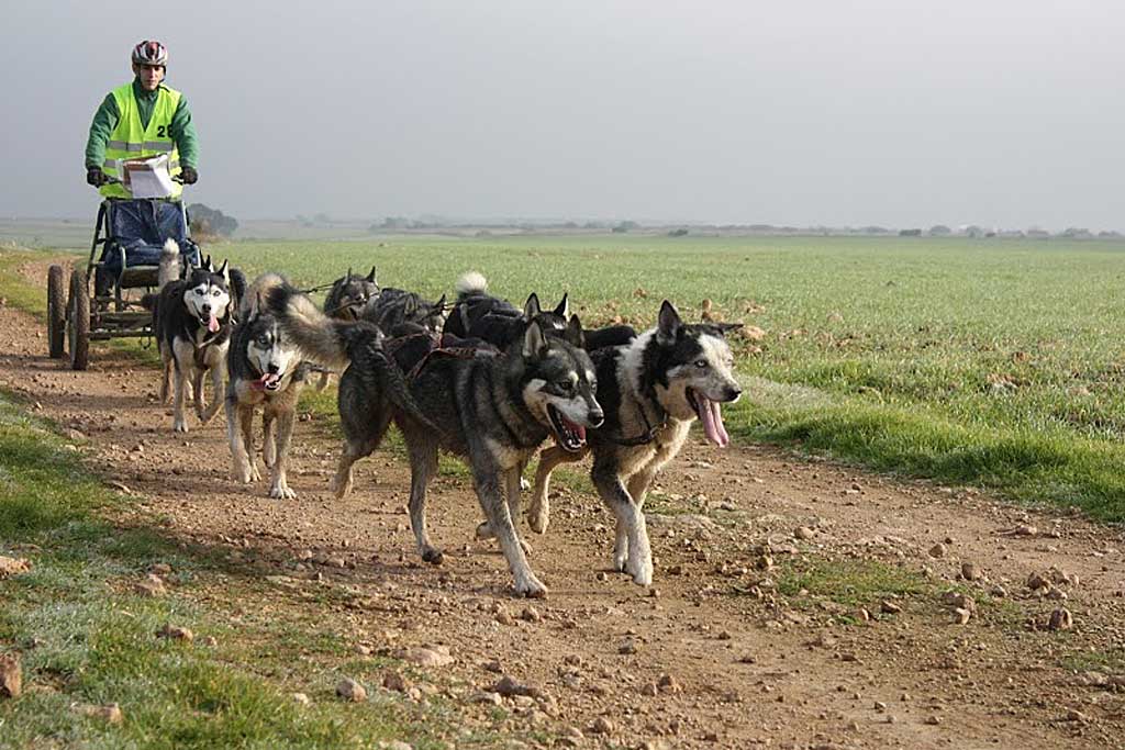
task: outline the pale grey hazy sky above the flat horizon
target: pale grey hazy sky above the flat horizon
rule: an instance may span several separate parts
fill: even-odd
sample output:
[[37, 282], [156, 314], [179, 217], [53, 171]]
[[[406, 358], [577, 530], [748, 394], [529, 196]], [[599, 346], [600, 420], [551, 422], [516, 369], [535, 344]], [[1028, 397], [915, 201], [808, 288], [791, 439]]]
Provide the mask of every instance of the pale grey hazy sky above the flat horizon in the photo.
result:
[[1119, 0], [15, 1], [0, 214], [92, 224], [143, 38], [241, 218], [1125, 229]]

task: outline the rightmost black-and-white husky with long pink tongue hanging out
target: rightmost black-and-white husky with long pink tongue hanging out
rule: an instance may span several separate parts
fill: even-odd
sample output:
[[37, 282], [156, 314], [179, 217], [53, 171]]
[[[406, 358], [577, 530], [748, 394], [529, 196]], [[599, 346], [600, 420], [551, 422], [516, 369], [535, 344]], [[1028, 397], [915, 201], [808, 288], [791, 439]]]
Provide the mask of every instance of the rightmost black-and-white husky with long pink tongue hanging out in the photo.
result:
[[665, 300], [655, 328], [627, 346], [593, 352], [605, 424], [590, 431], [585, 449], [543, 451], [528, 513], [532, 530], [547, 531], [547, 495], [555, 467], [593, 453], [591, 479], [616, 517], [614, 566], [637, 584], [650, 585], [652, 554], [641, 512], [645, 494], [657, 471], [680, 452], [696, 418], [712, 443], [724, 448], [730, 442], [719, 405], [738, 400], [742, 392], [724, 340], [726, 332], [737, 327], [685, 324]]

